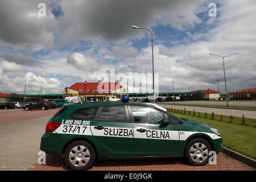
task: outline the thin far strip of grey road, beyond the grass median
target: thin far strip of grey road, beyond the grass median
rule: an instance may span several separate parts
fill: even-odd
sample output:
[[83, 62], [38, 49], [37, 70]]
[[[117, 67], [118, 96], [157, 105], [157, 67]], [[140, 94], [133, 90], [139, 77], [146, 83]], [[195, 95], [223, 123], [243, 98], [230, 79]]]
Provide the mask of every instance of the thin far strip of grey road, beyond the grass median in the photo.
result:
[[[172, 102], [164, 102], [170, 103]], [[205, 105], [223, 105], [226, 106], [226, 101], [175, 101], [176, 104], [205, 104]], [[256, 106], [256, 101], [228, 101], [230, 106]]]

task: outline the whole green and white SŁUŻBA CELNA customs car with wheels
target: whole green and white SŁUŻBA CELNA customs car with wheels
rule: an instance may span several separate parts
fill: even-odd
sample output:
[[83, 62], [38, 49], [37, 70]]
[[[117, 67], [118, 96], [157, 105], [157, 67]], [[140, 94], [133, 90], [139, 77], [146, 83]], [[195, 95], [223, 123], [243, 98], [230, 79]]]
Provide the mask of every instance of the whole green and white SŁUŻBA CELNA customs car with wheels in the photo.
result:
[[40, 150], [63, 156], [75, 170], [89, 169], [96, 159], [181, 156], [203, 166], [210, 151], [222, 151], [222, 137], [217, 129], [177, 118], [158, 105], [89, 102], [61, 108], [47, 123]]

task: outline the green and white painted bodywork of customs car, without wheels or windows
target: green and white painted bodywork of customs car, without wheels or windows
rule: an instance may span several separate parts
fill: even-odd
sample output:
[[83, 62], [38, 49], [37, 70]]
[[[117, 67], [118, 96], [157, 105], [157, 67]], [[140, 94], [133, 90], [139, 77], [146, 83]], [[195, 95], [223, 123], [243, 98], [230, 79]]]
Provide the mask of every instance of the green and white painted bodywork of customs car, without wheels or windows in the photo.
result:
[[[125, 107], [127, 121], [84, 121], [71, 118], [76, 110], [88, 107], [98, 107], [98, 114], [102, 106]], [[168, 115], [177, 119], [180, 124], [170, 123], [163, 126], [134, 122], [130, 106], [151, 107], [164, 113], [165, 117]], [[85, 140], [95, 148], [98, 159], [183, 156], [187, 142], [195, 137], [207, 139], [214, 151], [222, 151], [222, 137], [215, 134], [212, 127], [177, 118], [151, 104], [92, 102], [65, 105], [49, 122], [59, 122], [61, 125], [55, 131], [46, 132], [42, 136], [40, 150], [46, 154], [63, 156], [69, 143]], [[140, 129], [146, 131], [141, 133]]]

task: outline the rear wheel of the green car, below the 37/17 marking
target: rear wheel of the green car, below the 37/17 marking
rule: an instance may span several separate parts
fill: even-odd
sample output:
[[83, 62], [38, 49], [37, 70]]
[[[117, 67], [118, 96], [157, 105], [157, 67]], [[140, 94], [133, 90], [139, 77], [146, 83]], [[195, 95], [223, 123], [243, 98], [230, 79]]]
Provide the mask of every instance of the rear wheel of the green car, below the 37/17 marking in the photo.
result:
[[66, 148], [64, 154], [65, 164], [75, 171], [84, 171], [93, 166], [96, 151], [88, 142], [76, 141]]

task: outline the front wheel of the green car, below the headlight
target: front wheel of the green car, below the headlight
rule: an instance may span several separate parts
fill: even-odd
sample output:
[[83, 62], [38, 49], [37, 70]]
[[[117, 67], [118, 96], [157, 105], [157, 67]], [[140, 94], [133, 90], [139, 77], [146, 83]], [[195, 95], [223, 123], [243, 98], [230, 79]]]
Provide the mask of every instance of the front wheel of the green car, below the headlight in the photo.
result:
[[203, 138], [190, 140], [185, 147], [184, 156], [193, 166], [204, 166], [209, 161], [209, 152], [212, 151], [210, 143]]

